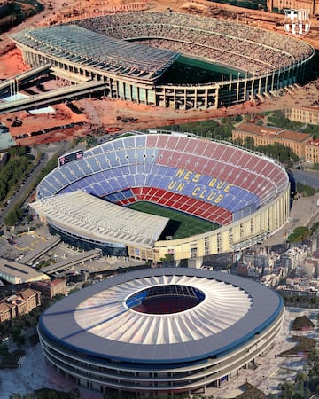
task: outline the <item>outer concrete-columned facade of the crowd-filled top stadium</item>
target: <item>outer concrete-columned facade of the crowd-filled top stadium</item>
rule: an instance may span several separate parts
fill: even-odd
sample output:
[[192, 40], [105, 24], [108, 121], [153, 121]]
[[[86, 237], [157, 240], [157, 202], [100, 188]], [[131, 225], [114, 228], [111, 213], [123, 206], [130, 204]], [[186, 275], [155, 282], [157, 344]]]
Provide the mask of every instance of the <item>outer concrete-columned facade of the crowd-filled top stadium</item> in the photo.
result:
[[[144, 12], [133, 12], [132, 14], [144, 15]], [[162, 12], [163, 18], [167, 18], [165, 16], [169, 16], [169, 14], [169, 12]], [[117, 15], [114, 14], [114, 16]], [[114, 18], [114, 16], [108, 15], [108, 18]], [[190, 15], [190, 20], [192, 17]], [[205, 19], [205, 17], [202, 18]], [[222, 23], [222, 20], [220, 20], [220, 23]], [[259, 34], [263, 31], [256, 27], [252, 27], [252, 29], [258, 29]], [[75, 62], [71, 59], [76, 58], [76, 52], [74, 52], [73, 57], [63, 59], [55, 53], [51, 54], [43, 50], [44, 43], [43, 49], [41, 46], [39, 47], [37, 41], [34, 44], [30, 34], [32, 35], [32, 31], [29, 32], [25, 29], [19, 34], [10, 36], [22, 51], [23, 59], [29, 66], [36, 67], [49, 63], [54, 69], [54, 74], [60, 74], [64, 78], [67, 76], [70, 81], [79, 82], [79, 77], [82, 81], [83, 76], [85, 76], [88, 80], [105, 82], [105, 88], [101, 92], [103, 91], [103, 95], [108, 98], [121, 98], [137, 104], [180, 110], [216, 109], [222, 106], [233, 106], [248, 100], [260, 100], [264, 93], [271, 97], [269, 93], [281, 90], [294, 83], [305, 82], [309, 61], [315, 55], [315, 49], [307, 44], [312, 51], [305, 59], [296, 60], [290, 66], [276, 66], [274, 70], [268, 73], [206, 84], [160, 84], [160, 82], [151, 81], [140, 82], [137, 78], [132, 78], [129, 75], [112, 74], [95, 67], [94, 61], [92, 66]], [[135, 39], [138, 40], [140, 37], [135, 37]], [[303, 44], [306, 46], [306, 43]], [[54, 48], [55, 43], [51, 45]], [[74, 98], [76, 98], [76, 94]]]

